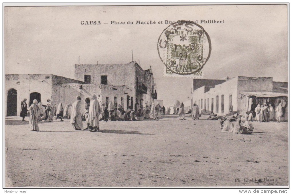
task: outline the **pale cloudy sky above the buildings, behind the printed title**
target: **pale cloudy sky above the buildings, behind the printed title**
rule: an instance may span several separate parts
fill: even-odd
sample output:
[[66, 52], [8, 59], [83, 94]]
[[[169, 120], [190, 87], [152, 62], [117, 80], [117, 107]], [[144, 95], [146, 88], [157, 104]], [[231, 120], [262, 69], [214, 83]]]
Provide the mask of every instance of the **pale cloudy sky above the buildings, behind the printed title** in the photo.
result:
[[[5, 7], [5, 74], [74, 78], [78, 56], [80, 64], [128, 63], [133, 50], [133, 60], [140, 60], [143, 69], [152, 66], [158, 99], [172, 106], [176, 99], [191, 97], [193, 79], [163, 76], [157, 41], [169, 25], [165, 20], [224, 20], [199, 23], [212, 44], [204, 79], [268, 76], [288, 81], [287, 14], [286, 5]], [[136, 20], [156, 24], [138, 25]]]

